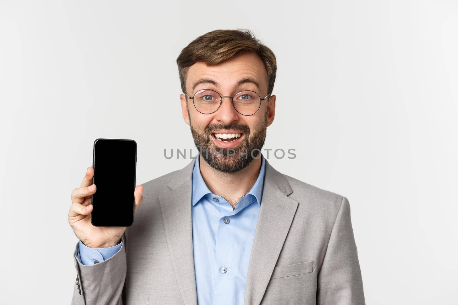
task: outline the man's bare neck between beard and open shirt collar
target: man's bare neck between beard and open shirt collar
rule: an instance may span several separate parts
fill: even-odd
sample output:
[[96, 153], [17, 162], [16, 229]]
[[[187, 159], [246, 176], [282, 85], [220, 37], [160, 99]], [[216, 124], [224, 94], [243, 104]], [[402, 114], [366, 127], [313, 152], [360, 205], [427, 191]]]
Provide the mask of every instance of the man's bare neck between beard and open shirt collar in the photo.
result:
[[248, 193], [261, 171], [261, 158], [253, 159], [244, 169], [234, 173], [215, 170], [199, 155], [200, 172], [208, 189], [219, 195], [235, 209], [235, 204]]

